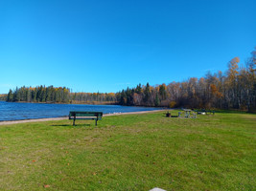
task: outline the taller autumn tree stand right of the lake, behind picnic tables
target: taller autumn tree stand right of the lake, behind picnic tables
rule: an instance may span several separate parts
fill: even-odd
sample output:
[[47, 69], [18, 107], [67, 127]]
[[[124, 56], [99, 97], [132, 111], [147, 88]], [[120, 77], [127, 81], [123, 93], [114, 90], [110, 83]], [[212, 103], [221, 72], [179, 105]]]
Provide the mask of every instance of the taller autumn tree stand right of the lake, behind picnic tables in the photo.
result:
[[205, 77], [191, 77], [171, 82], [126, 89], [116, 94], [119, 104], [188, 108], [219, 108], [256, 110], [256, 48], [244, 66], [235, 57], [228, 62], [225, 73], [219, 71]]

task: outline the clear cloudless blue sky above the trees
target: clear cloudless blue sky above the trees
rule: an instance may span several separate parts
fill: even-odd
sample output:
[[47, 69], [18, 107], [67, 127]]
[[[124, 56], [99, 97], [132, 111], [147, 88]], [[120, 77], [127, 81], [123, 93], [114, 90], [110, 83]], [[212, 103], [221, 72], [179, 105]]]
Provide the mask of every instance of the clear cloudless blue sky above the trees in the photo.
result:
[[117, 92], [225, 71], [256, 46], [255, 0], [1, 0], [0, 94]]

